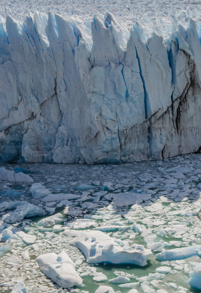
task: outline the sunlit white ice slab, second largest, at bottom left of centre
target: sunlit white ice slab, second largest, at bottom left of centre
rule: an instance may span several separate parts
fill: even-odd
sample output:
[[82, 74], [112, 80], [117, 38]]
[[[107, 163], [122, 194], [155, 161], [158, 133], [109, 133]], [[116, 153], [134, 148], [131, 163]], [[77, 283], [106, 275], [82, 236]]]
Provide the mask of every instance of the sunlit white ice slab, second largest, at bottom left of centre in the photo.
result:
[[45, 253], [36, 258], [42, 272], [63, 288], [80, 286], [82, 278], [75, 270], [75, 263], [64, 252]]

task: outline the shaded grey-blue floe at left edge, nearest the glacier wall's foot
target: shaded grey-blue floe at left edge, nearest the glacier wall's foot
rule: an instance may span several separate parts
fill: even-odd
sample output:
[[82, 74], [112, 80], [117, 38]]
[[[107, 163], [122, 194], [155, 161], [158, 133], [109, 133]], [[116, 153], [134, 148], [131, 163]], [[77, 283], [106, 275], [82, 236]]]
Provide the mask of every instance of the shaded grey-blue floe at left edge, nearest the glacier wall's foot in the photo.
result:
[[0, 168], [0, 180], [34, 182], [29, 175], [22, 172], [15, 173], [15, 171], [7, 170], [4, 167]]

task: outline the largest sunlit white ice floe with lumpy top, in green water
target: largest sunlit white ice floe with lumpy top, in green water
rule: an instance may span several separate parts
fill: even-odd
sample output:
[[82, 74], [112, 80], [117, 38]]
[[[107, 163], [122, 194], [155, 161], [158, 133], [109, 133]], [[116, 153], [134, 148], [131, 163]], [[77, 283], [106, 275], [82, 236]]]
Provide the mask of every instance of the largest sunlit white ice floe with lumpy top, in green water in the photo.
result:
[[143, 245], [128, 246], [123, 241], [96, 230], [81, 232], [69, 244], [78, 247], [84, 253], [87, 263], [132, 263], [144, 266], [152, 254]]

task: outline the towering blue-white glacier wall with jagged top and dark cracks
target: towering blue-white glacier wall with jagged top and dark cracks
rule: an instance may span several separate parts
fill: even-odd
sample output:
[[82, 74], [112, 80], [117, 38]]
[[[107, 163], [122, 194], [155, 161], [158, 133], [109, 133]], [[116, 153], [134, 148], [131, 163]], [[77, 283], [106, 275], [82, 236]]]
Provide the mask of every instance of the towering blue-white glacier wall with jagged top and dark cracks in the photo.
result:
[[[145, 35], [30, 13], [0, 23], [0, 161], [120, 163], [200, 151], [200, 22]], [[166, 35], [165, 35], [166, 33]]]

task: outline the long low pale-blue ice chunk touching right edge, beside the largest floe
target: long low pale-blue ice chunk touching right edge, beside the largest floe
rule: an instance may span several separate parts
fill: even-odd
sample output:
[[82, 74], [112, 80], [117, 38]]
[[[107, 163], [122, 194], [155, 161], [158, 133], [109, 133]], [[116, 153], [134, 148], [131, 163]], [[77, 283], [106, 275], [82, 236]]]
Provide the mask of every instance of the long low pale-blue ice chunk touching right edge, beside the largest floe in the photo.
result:
[[180, 260], [184, 258], [197, 255], [200, 252], [200, 246], [189, 246], [183, 248], [175, 248], [162, 251], [156, 255], [156, 259], [159, 261], [165, 260]]

